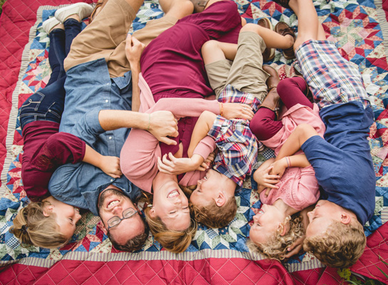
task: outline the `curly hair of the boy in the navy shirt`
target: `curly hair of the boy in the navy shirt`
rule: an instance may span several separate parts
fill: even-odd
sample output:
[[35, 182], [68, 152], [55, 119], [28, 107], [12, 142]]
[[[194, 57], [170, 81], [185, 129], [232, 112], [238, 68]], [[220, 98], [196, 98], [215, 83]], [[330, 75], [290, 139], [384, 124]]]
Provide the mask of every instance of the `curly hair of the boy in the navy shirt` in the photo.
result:
[[303, 249], [327, 266], [348, 268], [361, 257], [366, 244], [367, 237], [360, 222], [333, 221], [324, 234], [307, 237]]

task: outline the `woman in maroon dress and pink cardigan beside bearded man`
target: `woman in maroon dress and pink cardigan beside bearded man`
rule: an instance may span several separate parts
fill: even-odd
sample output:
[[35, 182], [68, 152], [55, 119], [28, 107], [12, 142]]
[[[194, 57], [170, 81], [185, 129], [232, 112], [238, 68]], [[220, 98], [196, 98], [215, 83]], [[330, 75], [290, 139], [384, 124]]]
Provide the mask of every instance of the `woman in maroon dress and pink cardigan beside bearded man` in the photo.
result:
[[[202, 141], [193, 155], [195, 163], [190, 163], [187, 150], [196, 120], [204, 110], [227, 118], [253, 116], [248, 105], [204, 100], [213, 90], [201, 57], [203, 43], [211, 38], [236, 42], [240, 29], [241, 16], [235, 3], [211, 0], [201, 13], [181, 19], [161, 33], [143, 53], [141, 43], [133, 37], [127, 39], [132, 84], [137, 88], [132, 96], [140, 94], [141, 111], [169, 110], [179, 120], [177, 136], [172, 138], [171, 145], [159, 145], [150, 133], [132, 130], [120, 153], [124, 175], [140, 189], [153, 194], [152, 207], [145, 210], [147, 221], [155, 239], [172, 252], [187, 249], [196, 230], [188, 199], [179, 185], [196, 185], [204, 177], [204, 172], [192, 170], [205, 170], [204, 161], [215, 147], [212, 139]], [[139, 86], [135, 78], [139, 79]], [[167, 155], [170, 160], [174, 157], [187, 160], [182, 160], [177, 173], [167, 175], [158, 170], [158, 163], [167, 160]], [[186, 175], [176, 176], [181, 173]]]

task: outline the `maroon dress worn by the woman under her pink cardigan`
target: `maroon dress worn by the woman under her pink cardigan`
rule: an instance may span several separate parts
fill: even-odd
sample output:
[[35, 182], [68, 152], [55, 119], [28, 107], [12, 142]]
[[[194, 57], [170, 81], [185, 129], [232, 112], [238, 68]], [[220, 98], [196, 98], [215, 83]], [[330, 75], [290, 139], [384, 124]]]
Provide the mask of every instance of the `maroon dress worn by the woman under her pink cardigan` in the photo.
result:
[[[172, 28], [155, 38], [140, 59], [142, 76], [157, 102], [161, 98], [204, 98], [213, 94], [201, 48], [206, 41], [237, 43], [241, 16], [233, 1], [220, 1], [205, 11], [180, 19]], [[177, 145], [160, 143], [162, 155], [179, 150], [187, 157], [190, 140], [198, 118], [181, 118]]]

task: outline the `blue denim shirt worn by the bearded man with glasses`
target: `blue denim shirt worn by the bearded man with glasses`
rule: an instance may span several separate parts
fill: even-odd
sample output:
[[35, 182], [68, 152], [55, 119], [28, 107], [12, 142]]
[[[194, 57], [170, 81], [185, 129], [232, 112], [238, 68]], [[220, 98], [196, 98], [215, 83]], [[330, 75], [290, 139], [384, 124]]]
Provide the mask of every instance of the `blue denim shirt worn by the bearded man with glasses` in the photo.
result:
[[[110, 78], [105, 60], [100, 58], [70, 68], [67, 76], [65, 110], [59, 131], [85, 140], [101, 155], [120, 157], [130, 129], [105, 132], [98, 121], [98, 113], [100, 110], [131, 110], [130, 71], [122, 77]], [[98, 215], [98, 195], [111, 184], [119, 187], [132, 200], [140, 195], [140, 189], [124, 175], [114, 179], [85, 162], [59, 167], [51, 177], [48, 190], [56, 199], [90, 209]]]

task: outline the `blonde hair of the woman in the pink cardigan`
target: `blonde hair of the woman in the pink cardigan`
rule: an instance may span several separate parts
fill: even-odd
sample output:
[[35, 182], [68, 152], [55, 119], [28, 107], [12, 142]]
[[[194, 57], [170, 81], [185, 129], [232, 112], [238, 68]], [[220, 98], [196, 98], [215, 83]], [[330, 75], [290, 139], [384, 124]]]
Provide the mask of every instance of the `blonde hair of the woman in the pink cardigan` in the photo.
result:
[[[141, 200], [147, 202], [148, 204], [152, 204], [153, 196], [144, 192], [143, 195], [144, 197], [142, 197]], [[175, 231], [167, 229], [166, 224], [164, 224], [162, 219], [159, 217], [151, 217], [150, 207], [145, 207], [143, 210], [145, 212], [145, 219], [148, 227], [150, 227], [150, 231], [154, 236], [154, 239], [157, 240], [164, 249], [177, 254], [184, 252], [192, 243], [192, 239], [196, 233], [196, 222], [193, 219], [187, 229], [184, 229], [183, 231]]]

